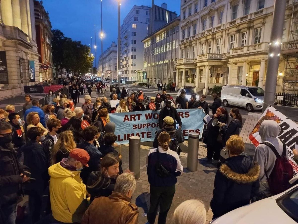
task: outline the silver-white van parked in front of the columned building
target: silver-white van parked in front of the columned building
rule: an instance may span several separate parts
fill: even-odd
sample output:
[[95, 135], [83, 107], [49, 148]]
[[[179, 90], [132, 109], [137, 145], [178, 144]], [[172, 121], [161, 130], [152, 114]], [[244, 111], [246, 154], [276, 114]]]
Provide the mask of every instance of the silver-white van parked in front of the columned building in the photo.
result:
[[264, 90], [256, 86], [228, 85], [221, 89], [221, 101], [229, 105], [245, 107], [247, 111], [262, 110]]

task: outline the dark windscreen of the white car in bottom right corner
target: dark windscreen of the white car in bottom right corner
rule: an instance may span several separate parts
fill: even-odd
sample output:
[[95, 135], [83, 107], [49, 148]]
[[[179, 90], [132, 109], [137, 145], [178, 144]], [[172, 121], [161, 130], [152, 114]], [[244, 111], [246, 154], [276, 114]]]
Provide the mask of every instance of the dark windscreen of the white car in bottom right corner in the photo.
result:
[[276, 202], [288, 216], [298, 222], [298, 187], [278, 198]]

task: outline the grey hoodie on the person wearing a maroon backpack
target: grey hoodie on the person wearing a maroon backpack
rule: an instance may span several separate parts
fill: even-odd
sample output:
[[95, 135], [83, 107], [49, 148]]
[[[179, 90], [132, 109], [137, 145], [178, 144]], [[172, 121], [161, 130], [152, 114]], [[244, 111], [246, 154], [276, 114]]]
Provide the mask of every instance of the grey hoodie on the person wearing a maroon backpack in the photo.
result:
[[[283, 153], [283, 143], [277, 138], [280, 133], [280, 126], [273, 120], [265, 120], [260, 126], [259, 134], [261, 136], [262, 142], [270, 142], [277, 152], [281, 155]], [[288, 158], [288, 153], [286, 153]], [[257, 146], [254, 152], [253, 162], [257, 162], [260, 165], [260, 182], [267, 181], [266, 174], [269, 177], [274, 165], [276, 156], [274, 152], [266, 145], [260, 144]]]

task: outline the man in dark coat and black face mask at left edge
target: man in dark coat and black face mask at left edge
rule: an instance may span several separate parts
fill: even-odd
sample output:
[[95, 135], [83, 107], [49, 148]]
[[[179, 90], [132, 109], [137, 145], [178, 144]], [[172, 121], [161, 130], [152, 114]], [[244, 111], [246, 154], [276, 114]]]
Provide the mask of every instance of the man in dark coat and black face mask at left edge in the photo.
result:
[[31, 174], [27, 166], [18, 162], [11, 143], [11, 129], [10, 123], [0, 122], [0, 223], [15, 224], [21, 184], [27, 182]]

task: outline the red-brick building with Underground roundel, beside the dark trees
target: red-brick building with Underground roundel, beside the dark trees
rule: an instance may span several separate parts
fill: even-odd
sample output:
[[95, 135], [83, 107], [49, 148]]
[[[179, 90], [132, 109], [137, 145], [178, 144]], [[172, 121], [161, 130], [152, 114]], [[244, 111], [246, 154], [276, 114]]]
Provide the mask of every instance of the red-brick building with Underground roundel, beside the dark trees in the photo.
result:
[[42, 6], [42, 1], [34, 0], [34, 16], [36, 42], [38, 47], [39, 66], [48, 65], [48, 69], [40, 69], [41, 80], [53, 80], [53, 60], [52, 60], [52, 25], [49, 19], [49, 13]]

